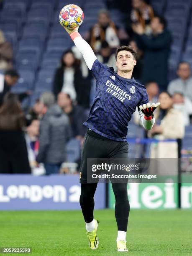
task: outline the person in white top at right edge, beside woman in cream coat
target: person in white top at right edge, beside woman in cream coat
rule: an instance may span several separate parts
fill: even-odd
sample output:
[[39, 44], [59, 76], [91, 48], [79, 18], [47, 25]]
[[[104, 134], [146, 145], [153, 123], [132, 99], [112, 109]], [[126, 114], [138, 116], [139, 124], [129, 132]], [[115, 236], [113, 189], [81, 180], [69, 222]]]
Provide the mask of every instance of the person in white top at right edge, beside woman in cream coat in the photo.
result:
[[192, 102], [181, 92], [175, 92], [173, 95], [173, 107], [179, 110], [184, 118], [184, 125], [190, 124], [189, 116], [192, 115]]

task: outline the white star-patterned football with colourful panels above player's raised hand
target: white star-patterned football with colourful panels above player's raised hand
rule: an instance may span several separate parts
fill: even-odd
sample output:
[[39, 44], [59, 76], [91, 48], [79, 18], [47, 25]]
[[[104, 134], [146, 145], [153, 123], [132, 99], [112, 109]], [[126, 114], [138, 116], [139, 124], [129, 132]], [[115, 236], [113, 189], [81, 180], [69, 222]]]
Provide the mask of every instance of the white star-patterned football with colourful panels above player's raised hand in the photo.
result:
[[83, 19], [83, 11], [78, 5], [66, 5], [59, 13], [59, 22], [65, 28], [77, 28]]

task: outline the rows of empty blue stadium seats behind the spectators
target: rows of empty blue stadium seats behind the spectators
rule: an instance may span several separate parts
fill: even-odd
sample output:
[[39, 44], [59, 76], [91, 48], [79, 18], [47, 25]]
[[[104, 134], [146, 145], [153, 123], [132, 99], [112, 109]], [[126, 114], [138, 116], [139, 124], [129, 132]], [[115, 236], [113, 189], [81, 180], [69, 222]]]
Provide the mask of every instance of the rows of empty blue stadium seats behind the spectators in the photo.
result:
[[[105, 0], [74, 0], [84, 11], [84, 22], [79, 32], [84, 34], [97, 22], [97, 13], [107, 8]], [[59, 66], [61, 54], [73, 46], [59, 24], [59, 12], [67, 0], [4, 0], [0, 12], [0, 29], [13, 47], [15, 68], [20, 79], [14, 92], [32, 90], [28, 102], [32, 106], [41, 92], [51, 90], [54, 70]], [[188, 61], [192, 67], [192, 1], [191, 0], [151, 0], [155, 13], [164, 15], [172, 32], [172, 47], [169, 56], [169, 81], [176, 78], [179, 61]], [[125, 14], [119, 9], [109, 10], [116, 26], [124, 26]], [[11, 17], [11, 18], [10, 18]], [[136, 132], [135, 125], [129, 125], [129, 137], [143, 135]], [[183, 147], [189, 145], [187, 139], [191, 127], [186, 128]], [[138, 135], [139, 134], [139, 135]], [[70, 145], [70, 144], [69, 144]], [[69, 146], [69, 151], [73, 152]], [[74, 146], [75, 148], [75, 146]], [[71, 155], [70, 155], [71, 154]], [[73, 154], [73, 156], [72, 156]], [[69, 153], [74, 159], [77, 152]]]

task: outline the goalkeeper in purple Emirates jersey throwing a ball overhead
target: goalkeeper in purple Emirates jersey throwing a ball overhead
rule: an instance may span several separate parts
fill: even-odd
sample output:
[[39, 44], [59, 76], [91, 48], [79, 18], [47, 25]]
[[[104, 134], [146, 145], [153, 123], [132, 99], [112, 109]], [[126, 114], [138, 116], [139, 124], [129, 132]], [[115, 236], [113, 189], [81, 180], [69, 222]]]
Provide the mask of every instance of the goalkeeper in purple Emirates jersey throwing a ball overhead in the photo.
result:
[[[138, 107], [143, 127], [150, 130], [155, 123], [153, 112], [160, 103], [150, 105], [146, 88], [131, 77], [136, 65], [136, 51], [131, 46], [117, 48], [115, 58], [118, 71], [115, 73], [113, 68], [97, 60], [90, 45], [78, 33], [78, 28], [65, 29], [96, 79], [95, 100], [89, 118], [84, 122], [88, 130], [84, 138], [80, 168], [80, 205], [90, 248], [96, 249], [99, 240], [96, 234], [98, 223], [93, 216], [93, 197], [97, 184], [87, 183], [87, 158], [128, 158], [126, 135], [133, 112]], [[128, 251], [126, 247], [129, 215], [127, 183], [112, 183], [112, 187], [118, 227], [117, 250]]]

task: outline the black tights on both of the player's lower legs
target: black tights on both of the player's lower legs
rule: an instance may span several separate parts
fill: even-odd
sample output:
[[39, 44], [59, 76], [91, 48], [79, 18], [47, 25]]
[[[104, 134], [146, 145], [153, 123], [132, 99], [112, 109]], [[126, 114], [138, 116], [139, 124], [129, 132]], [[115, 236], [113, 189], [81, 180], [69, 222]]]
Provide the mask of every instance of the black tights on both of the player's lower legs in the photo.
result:
[[[115, 195], [115, 218], [118, 230], [127, 231], [129, 216], [129, 201], [127, 196], [127, 184], [112, 183]], [[86, 223], [93, 220], [94, 195], [97, 184], [81, 184], [80, 205]]]

